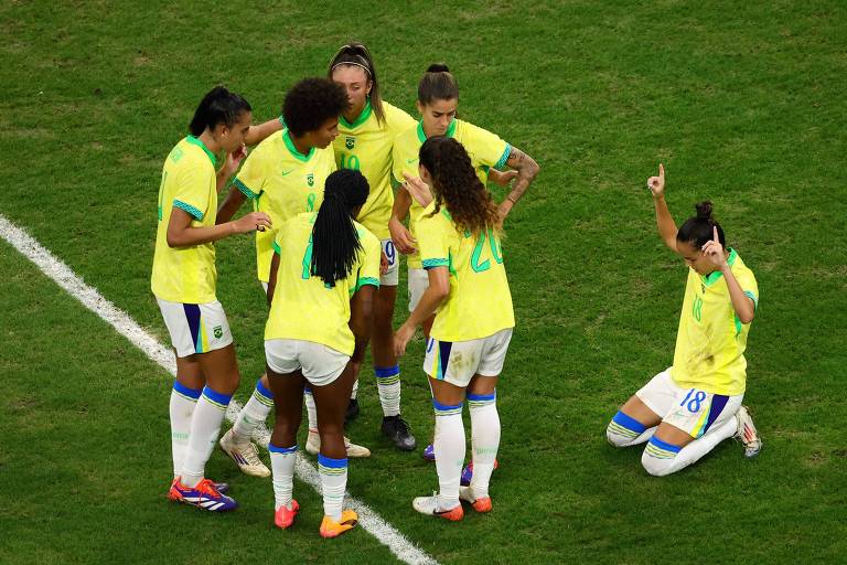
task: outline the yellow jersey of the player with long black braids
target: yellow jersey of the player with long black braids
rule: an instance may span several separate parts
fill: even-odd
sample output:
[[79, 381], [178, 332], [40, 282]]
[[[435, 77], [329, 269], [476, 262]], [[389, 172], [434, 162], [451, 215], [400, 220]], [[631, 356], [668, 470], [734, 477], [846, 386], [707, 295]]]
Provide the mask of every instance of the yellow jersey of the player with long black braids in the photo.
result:
[[353, 270], [334, 287], [312, 276], [312, 226], [317, 213], [298, 214], [277, 230], [279, 271], [265, 339], [304, 340], [353, 354], [350, 299], [365, 285], [379, 287], [379, 239], [356, 223], [362, 250]]

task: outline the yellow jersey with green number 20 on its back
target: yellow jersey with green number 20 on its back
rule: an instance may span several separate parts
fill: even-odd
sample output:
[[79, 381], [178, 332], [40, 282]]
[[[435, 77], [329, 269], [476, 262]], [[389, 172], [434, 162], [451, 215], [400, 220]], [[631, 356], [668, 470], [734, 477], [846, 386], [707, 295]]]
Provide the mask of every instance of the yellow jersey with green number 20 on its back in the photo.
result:
[[460, 234], [435, 203], [418, 221], [424, 268], [448, 267], [450, 295], [436, 313], [431, 334], [439, 341], [469, 341], [514, 328], [515, 313], [503, 266], [503, 247], [493, 232], [475, 238]]

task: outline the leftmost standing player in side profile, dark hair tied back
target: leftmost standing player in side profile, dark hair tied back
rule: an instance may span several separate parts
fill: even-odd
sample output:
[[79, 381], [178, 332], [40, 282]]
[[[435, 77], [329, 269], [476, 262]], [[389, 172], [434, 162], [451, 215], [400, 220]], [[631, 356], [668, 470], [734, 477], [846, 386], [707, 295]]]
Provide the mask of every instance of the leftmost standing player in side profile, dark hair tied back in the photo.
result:
[[[250, 105], [224, 87], [212, 89], [162, 169], [151, 289], [176, 351], [171, 392], [173, 483], [169, 498], [205, 510], [236, 507], [226, 486], [204, 478], [239, 374], [229, 324], [215, 297], [215, 247], [229, 235], [264, 230], [264, 212], [215, 225], [217, 192], [238, 169], [250, 129]], [[216, 171], [215, 153], [226, 152]]]

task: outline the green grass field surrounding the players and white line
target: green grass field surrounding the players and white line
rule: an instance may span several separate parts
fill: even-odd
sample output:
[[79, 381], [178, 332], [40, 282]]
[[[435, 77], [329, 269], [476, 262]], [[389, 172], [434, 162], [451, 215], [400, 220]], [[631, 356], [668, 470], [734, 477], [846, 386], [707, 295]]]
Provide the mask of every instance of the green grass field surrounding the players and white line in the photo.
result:
[[[2, 4], [0, 214], [167, 342], [149, 290], [156, 199], [202, 95], [223, 83], [271, 118], [355, 38], [384, 97], [414, 114], [420, 74], [446, 61], [462, 117], [542, 166], [506, 225], [518, 326], [498, 394], [496, 508], [461, 524], [412, 511], [435, 468], [382, 439], [369, 366], [350, 435], [374, 456], [353, 462], [350, 491], [440, 563], [844, 562], [847, 7], [305, 6]], [[744, 460], [727, 441], [665, 479], [604, 439], [673, 356], [686, 270], [644, 188], [660, 160], [677, 222], [711, 199], [757, 274], [746, 404], [765, 443]], [[251, 238], [217, 249], [245, 401], [267, 309]], [[302, 483], [296, 527], [275, 530], [270, 481], [219, 452], [208, 472], [233, 484], [238, 511], [169, 503], [168, 373], [6, 243], [0, 277], [0, 563], [394, 559], [365, 531], [320, 540], [320, 497]], [[422, 345], [401, 367], [404, 414], [425, 444]]]

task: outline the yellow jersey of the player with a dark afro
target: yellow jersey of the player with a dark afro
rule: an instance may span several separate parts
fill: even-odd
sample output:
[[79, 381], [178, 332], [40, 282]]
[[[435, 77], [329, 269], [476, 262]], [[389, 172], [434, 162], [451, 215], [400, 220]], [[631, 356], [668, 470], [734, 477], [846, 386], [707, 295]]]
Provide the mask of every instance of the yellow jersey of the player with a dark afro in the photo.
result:
[[235, 179], [235, 185], [266, 212], [271, 230], [256, 232], [256, 265], [259, 280], [267, 282], [277, 226], [301, 212], [318, 210], [323, 202], [326, 177], [335, 170], [332, 146], [298, 152], [288, 129], [278, 131], [253, 150]]

